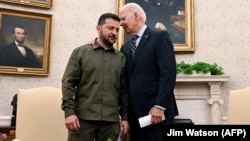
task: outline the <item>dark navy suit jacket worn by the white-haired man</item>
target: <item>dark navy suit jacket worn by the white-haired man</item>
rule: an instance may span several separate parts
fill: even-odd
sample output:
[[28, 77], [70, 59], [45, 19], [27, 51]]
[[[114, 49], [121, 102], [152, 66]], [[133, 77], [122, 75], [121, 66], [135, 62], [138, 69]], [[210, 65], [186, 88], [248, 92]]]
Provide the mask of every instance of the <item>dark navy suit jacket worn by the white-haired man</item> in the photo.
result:
[[174, 118], [178, 115], [174, 97], [176, 60], [169, 34], [147, 27], [133, 60], [130, 42], [122, 46], [121, 52], [127, 57], [130, 102], [136, 116], [148, 115], [154, 105], [159, 105], [166, 108], [166, 118]]

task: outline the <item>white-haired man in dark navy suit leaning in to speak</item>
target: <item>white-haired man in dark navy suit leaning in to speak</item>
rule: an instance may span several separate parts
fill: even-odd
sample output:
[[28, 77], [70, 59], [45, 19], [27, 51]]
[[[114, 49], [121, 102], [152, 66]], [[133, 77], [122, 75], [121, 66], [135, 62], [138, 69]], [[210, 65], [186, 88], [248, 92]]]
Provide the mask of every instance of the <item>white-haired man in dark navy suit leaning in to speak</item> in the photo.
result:
[[[167, 31], [152, 29], [145, 24], [146, 14], [138, 4], [124, 5], [119, 15], [124, 30], [131, 36], [138, 36], [133, 57], [131, 41], [121, 47], [127, 58], [131, 141], [165, 141], [165, 125], [173, 124], [178, 115], [174, 97], [176, 60], [173, 43]], [[146, 115], [151, 115], [152, 125], [141, 128], [138, 118]]]

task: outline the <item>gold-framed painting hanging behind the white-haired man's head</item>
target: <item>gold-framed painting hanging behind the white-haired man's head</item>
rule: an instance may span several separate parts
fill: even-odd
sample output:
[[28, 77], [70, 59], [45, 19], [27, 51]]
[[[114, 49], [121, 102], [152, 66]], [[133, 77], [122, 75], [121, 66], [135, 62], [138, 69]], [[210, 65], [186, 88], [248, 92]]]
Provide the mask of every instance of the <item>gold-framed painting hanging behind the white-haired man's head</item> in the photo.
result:
[[[139, 4], [147, 15], [146, 25], [167, 30], [175, 52], [195, 51], [193, 0], [119, 0], [117, 13], [127, 3]], [[117, 48], [131, 37], [121, 28]]]

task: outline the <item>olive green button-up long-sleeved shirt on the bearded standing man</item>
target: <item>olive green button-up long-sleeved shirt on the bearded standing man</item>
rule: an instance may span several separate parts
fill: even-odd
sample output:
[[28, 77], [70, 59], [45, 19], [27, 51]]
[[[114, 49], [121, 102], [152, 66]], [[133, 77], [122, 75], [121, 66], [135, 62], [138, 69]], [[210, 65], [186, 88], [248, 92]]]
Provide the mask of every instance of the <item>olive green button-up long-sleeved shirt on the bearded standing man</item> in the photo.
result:
[[[124, 54], [99, 44], [75, 48], [62, 78], [65, 117], [114, 121], [128, 118]], [[120, 117], [119, 117], [120, 116]]]

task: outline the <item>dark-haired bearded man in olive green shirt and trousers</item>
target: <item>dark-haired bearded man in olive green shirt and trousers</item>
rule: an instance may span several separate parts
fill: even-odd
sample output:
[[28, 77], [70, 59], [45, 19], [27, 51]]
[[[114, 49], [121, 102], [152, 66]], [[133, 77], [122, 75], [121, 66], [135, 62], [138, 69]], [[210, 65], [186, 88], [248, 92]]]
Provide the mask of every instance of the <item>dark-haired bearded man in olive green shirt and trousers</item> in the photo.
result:
[[115, 50], [120, 19], [102, 14], [93, 45], [75, 48], [62, 78], [68, 141], [116, 141], [128, 133], [126, 57]]

